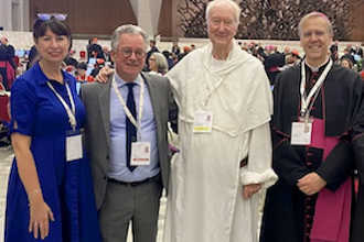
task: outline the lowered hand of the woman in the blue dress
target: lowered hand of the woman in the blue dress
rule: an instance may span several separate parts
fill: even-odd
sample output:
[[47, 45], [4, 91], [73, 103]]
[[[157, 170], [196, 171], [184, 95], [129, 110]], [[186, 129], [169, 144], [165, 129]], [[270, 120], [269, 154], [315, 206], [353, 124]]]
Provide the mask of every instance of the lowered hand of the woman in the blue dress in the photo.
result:
[[43, 197], [40, 195], [32, 198], [30, 201], [29, 232], [33, 232], [34, 239], [41, 235], [41, 239], [44, 240], [50, 234], [50, 220], [54, 221], [54, 216]]

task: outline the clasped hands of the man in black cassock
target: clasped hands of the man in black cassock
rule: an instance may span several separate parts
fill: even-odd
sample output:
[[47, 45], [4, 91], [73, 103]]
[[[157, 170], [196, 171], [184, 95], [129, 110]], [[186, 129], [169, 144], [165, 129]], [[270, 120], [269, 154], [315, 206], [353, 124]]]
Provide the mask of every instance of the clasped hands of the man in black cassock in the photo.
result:
[[326, 184], [317, 173], [309, 173], [298, 180], [297, 186], [303, 194], [311, 196], [319, 193]]

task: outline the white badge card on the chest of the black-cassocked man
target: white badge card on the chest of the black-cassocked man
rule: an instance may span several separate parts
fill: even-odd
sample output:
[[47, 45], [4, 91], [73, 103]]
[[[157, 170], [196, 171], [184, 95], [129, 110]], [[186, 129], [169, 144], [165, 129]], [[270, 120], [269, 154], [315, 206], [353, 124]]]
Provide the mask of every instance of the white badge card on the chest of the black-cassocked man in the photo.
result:
[[310, 145], [312, 134], [312, 122], [292, 122], [291, 144]]

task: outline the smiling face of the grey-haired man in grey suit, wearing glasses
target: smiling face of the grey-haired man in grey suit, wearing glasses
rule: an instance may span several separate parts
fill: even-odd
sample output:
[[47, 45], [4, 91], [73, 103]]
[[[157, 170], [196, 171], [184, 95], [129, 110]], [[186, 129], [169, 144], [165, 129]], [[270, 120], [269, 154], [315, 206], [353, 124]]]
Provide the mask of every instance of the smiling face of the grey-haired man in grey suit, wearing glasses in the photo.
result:
[[[126, 81], [132, 81], [144, 67], [146, 43], [140, 34], [124, 33], [119, 37], [118, 48], [111, 51], [117, 74]], [[127, 56], [126, 53], [131, 53]], [[137, 54], [139, 53], [139, 57]], [[141, 54], [142, 53], [142, 54]]]

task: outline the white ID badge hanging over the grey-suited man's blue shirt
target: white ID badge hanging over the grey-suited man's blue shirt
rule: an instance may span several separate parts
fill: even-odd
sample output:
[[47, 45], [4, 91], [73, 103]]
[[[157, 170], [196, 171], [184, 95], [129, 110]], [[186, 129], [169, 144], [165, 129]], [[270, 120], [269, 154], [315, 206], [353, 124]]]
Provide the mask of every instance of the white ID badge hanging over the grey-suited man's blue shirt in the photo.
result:
[[130, 165], [150, 165], [150, 142], [131, 143]]

